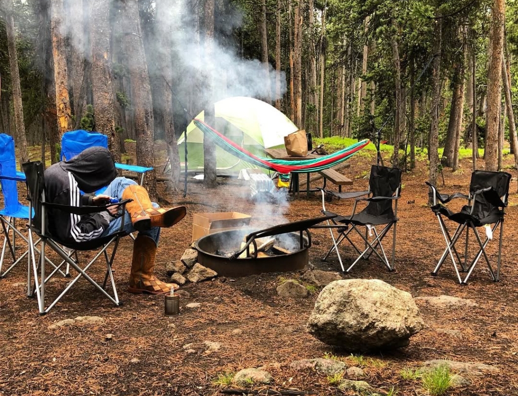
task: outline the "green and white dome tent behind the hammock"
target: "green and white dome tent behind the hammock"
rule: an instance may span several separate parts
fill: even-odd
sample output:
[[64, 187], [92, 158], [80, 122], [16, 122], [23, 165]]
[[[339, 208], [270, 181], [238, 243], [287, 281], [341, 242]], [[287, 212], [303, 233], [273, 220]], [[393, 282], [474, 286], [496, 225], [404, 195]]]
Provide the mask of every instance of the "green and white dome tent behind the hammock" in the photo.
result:
[[[284, 147], [284, 136], [297, 126], [274, 106], [249, 97], [226, 98], [214, 103], [214, 128], [228, 139], [257, 156], [265, 156], [266, 148]], [[195, 118], [204, 120], [202, 111]], [[203, 172], [203, 132], [191, 121], [187, 127], [188, 171]], [[178, 140], [180, 162], [184, 165], [184, 134]], [[218, 174], [237, 174], [241, 169], [257, 167], [216, 146]], [[183, 166], [182, 166], [183, 167]]]

